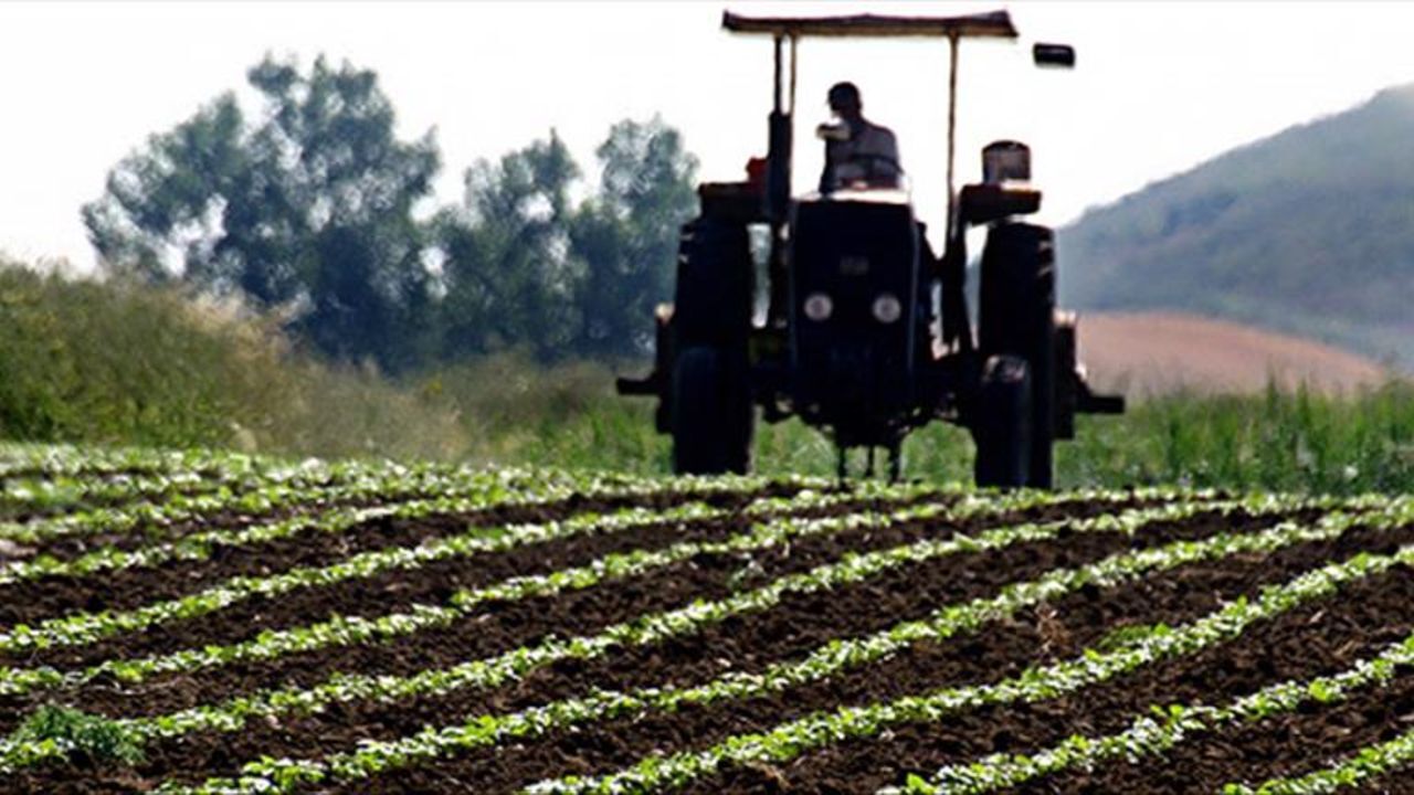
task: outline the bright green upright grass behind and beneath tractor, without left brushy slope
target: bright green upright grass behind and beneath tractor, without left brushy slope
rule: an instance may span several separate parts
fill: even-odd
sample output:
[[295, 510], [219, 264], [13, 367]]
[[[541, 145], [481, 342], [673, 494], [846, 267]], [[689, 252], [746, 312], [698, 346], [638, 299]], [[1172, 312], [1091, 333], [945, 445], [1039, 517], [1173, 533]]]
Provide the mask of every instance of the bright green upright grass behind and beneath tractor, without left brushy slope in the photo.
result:
[[[549, 393], [556, 373], [537, 376]], [[608, 379], [585, 381], [578, 406], [503, 414], [485, 460], [666, 472], [670, 444], [653, 433], [652, 402], [609, 393]], [[527, 386], [527, 390], [536, 388]], [[855, 453], [851, 471], [864, 467]], [[971, 477], [966, 431], [935, 423], [904, 446], [905, 474], [939, 481]], [[880, 470], [882, 471], [882, 457]], [[831, 475], [834, 448], [796, 420], [758, 424], [762, 472]], [[1319, 494], [1414, 489], [1414, 386], [1390, 382], [1356, 395], [1268, 389], [1261, 395], [1168, 395], [1131, 403], [1120, 417], [1079, 417], [1075, 441], [1056, 450], [1060, 487], [1178, 484]]]

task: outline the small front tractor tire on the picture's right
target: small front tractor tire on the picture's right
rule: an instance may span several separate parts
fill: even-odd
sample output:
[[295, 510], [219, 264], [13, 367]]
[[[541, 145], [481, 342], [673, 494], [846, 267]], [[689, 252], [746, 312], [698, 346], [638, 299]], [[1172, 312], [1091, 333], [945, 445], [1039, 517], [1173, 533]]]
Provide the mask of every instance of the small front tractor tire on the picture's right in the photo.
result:
[[1021, 356], [991, 356], [983, 368], [971, 424], [977, 446], [973, 477], [980, 487], [1031, 482], [1034, 416], [1031, 368]]

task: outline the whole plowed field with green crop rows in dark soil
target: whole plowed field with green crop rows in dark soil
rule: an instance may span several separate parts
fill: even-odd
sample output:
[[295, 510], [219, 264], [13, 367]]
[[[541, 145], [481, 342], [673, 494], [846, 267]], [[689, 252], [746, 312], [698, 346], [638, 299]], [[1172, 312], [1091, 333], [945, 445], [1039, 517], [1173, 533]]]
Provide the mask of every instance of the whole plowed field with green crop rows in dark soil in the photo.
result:
[[1414, 499], [0, 447], [0, 792], [1414, 792]]

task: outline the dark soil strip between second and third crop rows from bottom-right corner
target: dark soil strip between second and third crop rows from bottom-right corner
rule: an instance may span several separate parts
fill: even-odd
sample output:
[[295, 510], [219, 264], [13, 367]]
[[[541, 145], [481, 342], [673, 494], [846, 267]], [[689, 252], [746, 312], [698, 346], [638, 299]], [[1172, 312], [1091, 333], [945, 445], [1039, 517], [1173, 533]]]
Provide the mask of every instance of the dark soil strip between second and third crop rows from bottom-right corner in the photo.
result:
[[[1410, 604], [1414, 604], [1414, 571], [1397, 569], [1353, 584], [1336, 598], [1257, 625], [1196, 656], [1168, 661], [1066, 699], [987, 709], [939, 724], [901, 726], [887, 738], [841, 743], [779, 768], [728, 767], [689, 792], [872, 792], [902, 784], [908, 774], [928, 775], [945, 764], [994, 753], [1036, 751], [1076, 733], [1121, 731], [1150, 704], [1229, 700], [1284, 679], [1342, 671], [1406, 637], [1414, 628]], [[918, 690], [913, 685], [906, 689]], [[1147, 781], [1143, 792], [1188, 791], [1186, 771], [1162, 770], [1167, 775]], [[1226, 778], [1232, 781], [1243, 772], [1244, 768], [1234, 767]]]

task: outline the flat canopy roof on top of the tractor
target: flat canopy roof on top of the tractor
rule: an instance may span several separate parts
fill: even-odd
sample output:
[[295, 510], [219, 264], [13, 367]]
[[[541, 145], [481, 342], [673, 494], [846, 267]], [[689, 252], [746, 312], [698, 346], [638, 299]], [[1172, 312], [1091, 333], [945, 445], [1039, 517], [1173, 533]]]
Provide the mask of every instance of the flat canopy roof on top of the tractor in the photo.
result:
[[942, 37], [942, 38], [1017, 38], [1007, 11], [959, 17], [888, 17], [855, 14], [848, 17], [744, 17], [725, 11], [721, 27], [731, 33], [769, 34], [773, 37]]

